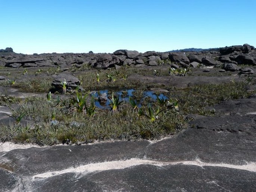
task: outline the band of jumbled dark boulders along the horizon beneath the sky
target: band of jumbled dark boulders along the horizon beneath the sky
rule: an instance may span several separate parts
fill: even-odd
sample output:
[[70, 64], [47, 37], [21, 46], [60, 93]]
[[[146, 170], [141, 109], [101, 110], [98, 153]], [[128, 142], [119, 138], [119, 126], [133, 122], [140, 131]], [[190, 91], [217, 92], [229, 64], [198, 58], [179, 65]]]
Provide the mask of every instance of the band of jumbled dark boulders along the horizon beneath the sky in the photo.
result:
[[[83, 64], [94, 68], [110, 68], [125, 65], [161, 65], [164, 61], [175, 62], [182, 67], [198, 65], [216, 66], [229, 64], [226, 70], [238, 70], [237, 64], [256, 65], [256, 50], [249, 44], [222, 47], [202, 52], [155, 52], [139, 53], [132, 50], [117, 50], [114, 53], [43, 53], [25, 55], [13, 52], [12, 48], [0, 50], [0, 66], [28, 68], [59, 66], [81, 67]], [[232, 66], [232, 67], [230, 67]]]

